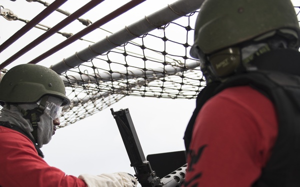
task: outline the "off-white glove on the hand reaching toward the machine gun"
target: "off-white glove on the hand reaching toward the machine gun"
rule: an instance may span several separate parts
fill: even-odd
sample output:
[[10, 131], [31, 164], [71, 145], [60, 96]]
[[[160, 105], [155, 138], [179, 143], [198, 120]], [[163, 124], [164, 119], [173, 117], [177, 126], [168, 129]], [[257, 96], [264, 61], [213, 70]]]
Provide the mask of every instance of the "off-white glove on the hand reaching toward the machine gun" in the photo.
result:
[[118, 172], [98, 176], [82, 174], [78, 177], [87, 187], [136, 187], [136, 179], [127, 173]]

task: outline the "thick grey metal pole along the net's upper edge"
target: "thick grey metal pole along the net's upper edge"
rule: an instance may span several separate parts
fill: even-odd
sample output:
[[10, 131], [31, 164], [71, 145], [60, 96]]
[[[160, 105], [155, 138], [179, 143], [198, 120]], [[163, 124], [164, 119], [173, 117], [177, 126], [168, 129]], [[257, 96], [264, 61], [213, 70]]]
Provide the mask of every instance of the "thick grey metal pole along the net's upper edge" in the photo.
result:
[[76, 67], [118, 45], [122, 45], [132, 39], [148, 33], [155, 28], [165, 25], [181, 16], [197, 10], [203, 0], [178, 0], [168, 6], [154, 12], [143, 19], [126, 26], [125, 28], [106, 36], [106, 38], [89, 45], [87, 48], [52, 65], [50, 68], [56, 73], [63, 73], [72, 67]]

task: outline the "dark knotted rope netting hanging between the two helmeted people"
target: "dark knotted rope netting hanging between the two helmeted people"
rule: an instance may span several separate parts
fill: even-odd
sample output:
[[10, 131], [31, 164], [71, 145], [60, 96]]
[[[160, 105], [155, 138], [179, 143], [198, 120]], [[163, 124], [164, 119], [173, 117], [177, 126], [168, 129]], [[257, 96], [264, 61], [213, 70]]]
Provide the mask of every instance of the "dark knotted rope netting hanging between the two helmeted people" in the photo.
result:
[[71, 103], [60, 127], [125, 96], [195, 98], [205, 86], [199, 62], [189, 56], [196, 16], [191, 12], [62, 73]]

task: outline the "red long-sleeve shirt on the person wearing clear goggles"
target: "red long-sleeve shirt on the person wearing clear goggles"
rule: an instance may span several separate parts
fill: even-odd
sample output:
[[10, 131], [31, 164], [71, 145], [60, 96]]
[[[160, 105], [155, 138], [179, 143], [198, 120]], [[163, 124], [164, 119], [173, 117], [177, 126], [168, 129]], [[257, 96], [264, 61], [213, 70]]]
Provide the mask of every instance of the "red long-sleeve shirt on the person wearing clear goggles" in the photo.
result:
[[0, 126], [0, 187], [86, 187], [85, 183], [50, 167], [32, 142]]

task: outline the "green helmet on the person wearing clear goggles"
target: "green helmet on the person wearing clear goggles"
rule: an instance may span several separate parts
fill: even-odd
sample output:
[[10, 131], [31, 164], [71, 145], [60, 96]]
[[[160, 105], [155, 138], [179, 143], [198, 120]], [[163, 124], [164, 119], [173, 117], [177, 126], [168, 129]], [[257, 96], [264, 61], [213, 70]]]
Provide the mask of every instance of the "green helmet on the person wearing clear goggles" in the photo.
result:
[[70, 101], [65, 96], [65, 87], [60, 76], [53, 70], [36, 64], [21, 64], [8, 70], [0, 82], [0, 101], [30, 103], [44, 95]]

